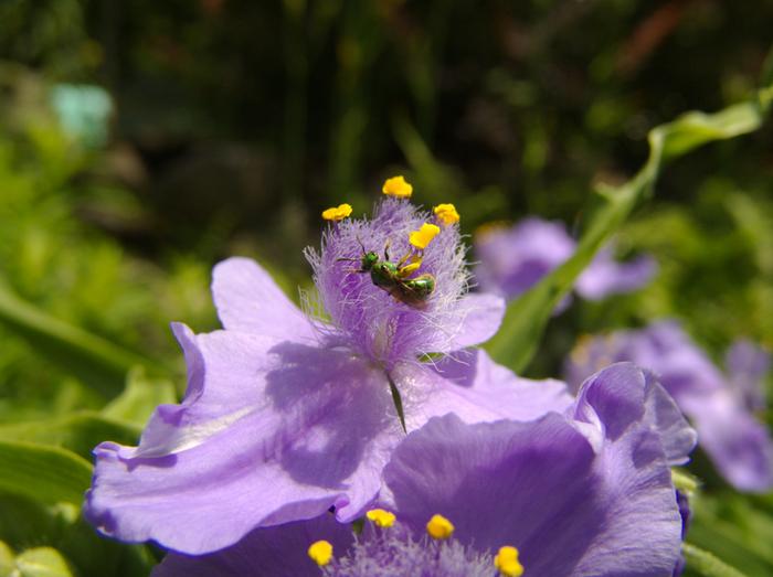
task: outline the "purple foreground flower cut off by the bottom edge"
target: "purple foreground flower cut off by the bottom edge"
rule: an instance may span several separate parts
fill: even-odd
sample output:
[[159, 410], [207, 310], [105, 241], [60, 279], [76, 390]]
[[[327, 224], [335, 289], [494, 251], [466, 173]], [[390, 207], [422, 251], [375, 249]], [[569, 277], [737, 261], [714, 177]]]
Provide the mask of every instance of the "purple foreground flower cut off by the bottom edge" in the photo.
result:
[[[333, 545], [321, 573], [490, 576], [501, 547], [516, 547], [525, 575], [668, 577], [682, 528], [669, 464], [685, 462], [693, 445], [674, 400], [629, 363], [589, 378], [561, 413], [475, 425], [455, 415], [433, 418], [384, 469], [381, 501], [398, 524], [368, 525], [353, 545]], [[452, 522], [449, 538], [426, 536], [436, 514]], [[222, 577], [244, 575], [248, 565], [240, 567], [236, 557], [254, 564], [266, 541], [279, 541], [273, 530], [261, 531], [239, 549], [204, 558], [170, 554], [153, 577], [203, 575], [201, 565], [215, 563], [232, 564]], [[308, 543], [288, 541], [283, 557], [304, 555]], [[261, 574], [284, 575], [273, 565]], [[315, 574], [311, 567], [294, 575]]]

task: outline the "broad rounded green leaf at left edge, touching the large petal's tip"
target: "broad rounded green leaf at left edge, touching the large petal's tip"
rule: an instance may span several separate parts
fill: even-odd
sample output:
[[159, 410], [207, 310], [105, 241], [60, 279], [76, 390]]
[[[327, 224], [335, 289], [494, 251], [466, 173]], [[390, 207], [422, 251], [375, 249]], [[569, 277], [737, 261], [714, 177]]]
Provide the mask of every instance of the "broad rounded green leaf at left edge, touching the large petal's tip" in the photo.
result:
[[81, 504], [91, 484], [92, 466], [57, 447], [0, 441], [0, 490], [43, 503]]

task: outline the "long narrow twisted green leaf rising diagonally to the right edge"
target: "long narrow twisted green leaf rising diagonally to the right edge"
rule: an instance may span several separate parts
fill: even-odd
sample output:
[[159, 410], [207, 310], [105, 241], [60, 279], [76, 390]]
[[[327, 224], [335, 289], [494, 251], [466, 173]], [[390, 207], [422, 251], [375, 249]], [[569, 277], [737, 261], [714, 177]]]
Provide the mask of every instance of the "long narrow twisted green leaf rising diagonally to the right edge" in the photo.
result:
[[654, 128], [648, 138], [649, 157], [639, 172], [621, 186], [596, 190], [595, 207], [591, 211], [574, 255], [508, 304], [499, 332], [486, 344], [491, 356], [515, 372], [522, 373], [537, 352], [552, 311], [634, 206], [652, 193], [663, 162], [707, 142], [756, 130], [770, 105], [770, 98], [765, 99], [764, 93], [765, 89], [748, 103], [712, 115], [688, 113], [670, 124]]

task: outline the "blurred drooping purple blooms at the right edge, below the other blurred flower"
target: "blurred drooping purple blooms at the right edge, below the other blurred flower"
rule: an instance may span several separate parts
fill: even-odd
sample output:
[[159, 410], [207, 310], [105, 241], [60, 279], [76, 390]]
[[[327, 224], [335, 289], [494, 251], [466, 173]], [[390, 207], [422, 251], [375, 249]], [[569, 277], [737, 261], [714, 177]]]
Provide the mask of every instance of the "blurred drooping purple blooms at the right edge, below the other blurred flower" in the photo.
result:
[[752, 414], [764, 405], [763, 351], [745, 341], [737, 343], [728, 353], [724, 375], [676, 322], [659, 322], [640, 331], [585, 339], [566, 362], [566, 380], [576, 385], [617, 361], [633, 361], [658, 375], [731, 484], [742, 491], [773, 488], [773, 441]]

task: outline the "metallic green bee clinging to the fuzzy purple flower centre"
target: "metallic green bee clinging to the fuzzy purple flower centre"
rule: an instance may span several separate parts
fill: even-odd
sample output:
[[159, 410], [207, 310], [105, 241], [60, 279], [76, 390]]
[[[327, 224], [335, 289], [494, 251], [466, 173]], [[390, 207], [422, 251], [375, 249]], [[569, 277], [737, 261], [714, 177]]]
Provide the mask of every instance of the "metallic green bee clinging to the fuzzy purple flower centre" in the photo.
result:
[[[413, 307], [424, 309], [426, 299], [435, 290], [435, 277], [430, 274], [410, 278], [421, 266], [420, 256], [409, 253], [399, 263], [392, 263], [389, 258], [389, 243], [384, 247], [383, 260], [372, 250], [366, 252], [362, 247], [362, 258], [359, 259], [360, 268], [354, 273], [370, 274], [370, 279], [380, 289], [389, 292], [395, 300]], [[341, 258], [340, 260], [354, 260], [356, 258]]]

